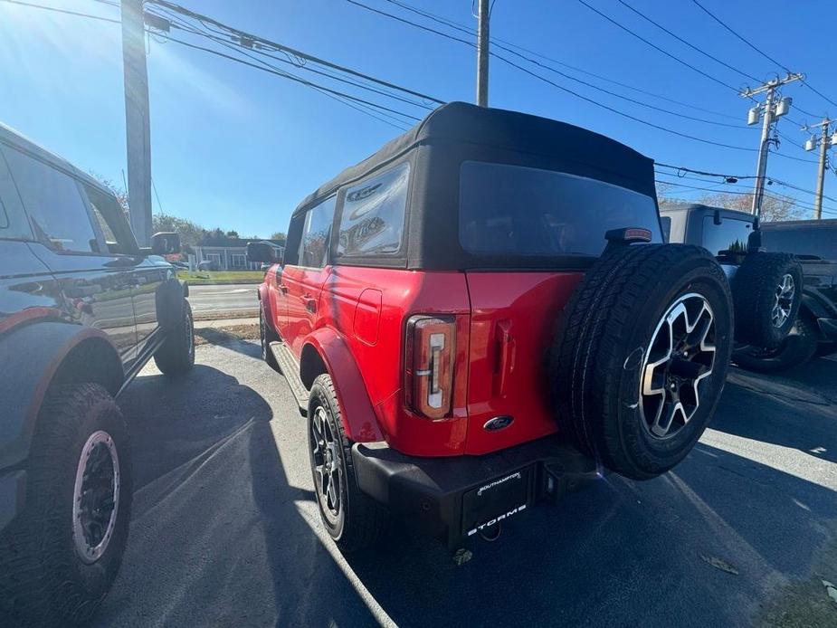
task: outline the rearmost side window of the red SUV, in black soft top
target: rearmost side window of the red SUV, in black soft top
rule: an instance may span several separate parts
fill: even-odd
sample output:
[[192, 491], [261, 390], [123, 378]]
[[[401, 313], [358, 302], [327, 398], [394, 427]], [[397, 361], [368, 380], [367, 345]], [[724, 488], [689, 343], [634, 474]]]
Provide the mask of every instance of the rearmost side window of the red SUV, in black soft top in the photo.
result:
[[347, 189], [340, 216], [339, 256], [401, 249], [409, 181], [410, 165], [402, 164]]

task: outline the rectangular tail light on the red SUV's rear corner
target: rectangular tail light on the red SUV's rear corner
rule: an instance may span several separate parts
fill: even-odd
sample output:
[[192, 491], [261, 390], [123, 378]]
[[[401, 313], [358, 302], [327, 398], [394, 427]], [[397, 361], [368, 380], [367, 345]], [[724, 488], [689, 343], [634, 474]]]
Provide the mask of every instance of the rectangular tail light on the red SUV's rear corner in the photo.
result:
[[404, 395], [408, 407], [431, 419], [451, 414], [456, 319], [413, 316], [407, 320]]

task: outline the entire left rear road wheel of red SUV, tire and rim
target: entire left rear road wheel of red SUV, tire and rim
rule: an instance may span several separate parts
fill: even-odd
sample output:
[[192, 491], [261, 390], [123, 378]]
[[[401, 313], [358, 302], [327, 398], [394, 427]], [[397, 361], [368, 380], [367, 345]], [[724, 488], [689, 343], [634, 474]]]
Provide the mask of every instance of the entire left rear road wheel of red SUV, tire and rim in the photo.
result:
[[343, 430], [338, 395], [328, 374], [318, 376], [311, 386], [308, 423], [311, 475], [323, 526], [342, 552], [371, 547], [383, 533], [387, 516], [357, 486], [352, 442]]

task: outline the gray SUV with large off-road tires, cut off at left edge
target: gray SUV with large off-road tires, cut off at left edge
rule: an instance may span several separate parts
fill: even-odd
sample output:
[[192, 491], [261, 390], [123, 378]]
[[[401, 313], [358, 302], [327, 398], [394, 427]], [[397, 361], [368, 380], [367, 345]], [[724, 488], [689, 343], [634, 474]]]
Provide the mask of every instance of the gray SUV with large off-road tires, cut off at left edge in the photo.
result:
[[114, 401], [154, 357], [195, 360], [185, 285], [115, 195], [0, 125], [0, 625], [85, 623], [128, 536], [131, 451]]

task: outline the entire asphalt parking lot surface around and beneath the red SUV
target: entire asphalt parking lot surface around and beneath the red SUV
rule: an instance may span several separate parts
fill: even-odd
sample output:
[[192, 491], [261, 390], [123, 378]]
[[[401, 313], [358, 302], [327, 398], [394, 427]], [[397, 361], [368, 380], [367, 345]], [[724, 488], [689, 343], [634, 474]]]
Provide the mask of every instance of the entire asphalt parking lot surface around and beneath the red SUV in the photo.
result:
[[120, 404], [138, 490], [100, 626], [837, 625], [837, 361], [733, 369], [676, 470], [532, 509], [464, 566], [397, 526], [338, 553], [257, 344], [198, 347], [179, 381], [147, 366]]

